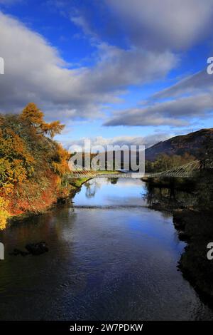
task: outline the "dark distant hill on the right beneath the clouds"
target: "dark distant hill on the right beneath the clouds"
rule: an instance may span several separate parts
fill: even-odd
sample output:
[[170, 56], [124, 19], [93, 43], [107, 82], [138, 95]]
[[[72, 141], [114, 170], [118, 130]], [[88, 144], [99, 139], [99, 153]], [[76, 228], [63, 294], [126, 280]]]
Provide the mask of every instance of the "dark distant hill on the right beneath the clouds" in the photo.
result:
[[207, 135], [213, 136], [213, 128], [201, 129], [195, 131], [195, 133], [179, 135], [169, 140], [159, 142], [151, 148], [146, 149], [146, 160], [155, 160], [155, 158], [162, 153], [167, 155], [190, 153], [190, 155], [197, 157]]

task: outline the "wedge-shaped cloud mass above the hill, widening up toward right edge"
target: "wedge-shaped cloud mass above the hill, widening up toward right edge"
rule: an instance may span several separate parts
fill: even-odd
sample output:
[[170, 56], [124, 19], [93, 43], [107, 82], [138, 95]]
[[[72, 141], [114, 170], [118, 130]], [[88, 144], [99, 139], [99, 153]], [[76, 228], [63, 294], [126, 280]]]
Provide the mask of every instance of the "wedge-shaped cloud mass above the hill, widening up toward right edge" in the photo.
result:
[[213, 112], [213, 76], [206, 69], [165, 88], [143, 106], [121, 110], [105, 125], [190, 125]]

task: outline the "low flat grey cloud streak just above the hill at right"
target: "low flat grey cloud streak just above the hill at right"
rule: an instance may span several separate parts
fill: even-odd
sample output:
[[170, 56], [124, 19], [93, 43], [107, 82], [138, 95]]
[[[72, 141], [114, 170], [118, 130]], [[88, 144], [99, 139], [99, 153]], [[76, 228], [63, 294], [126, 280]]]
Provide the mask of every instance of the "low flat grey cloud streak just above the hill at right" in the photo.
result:
[[213, 96], [200, 93], [153, 103], [144, 108], [132, 108], [114, 113], [105, 125], [190, 125], [193, 118], [207, 117], [213, 110]]

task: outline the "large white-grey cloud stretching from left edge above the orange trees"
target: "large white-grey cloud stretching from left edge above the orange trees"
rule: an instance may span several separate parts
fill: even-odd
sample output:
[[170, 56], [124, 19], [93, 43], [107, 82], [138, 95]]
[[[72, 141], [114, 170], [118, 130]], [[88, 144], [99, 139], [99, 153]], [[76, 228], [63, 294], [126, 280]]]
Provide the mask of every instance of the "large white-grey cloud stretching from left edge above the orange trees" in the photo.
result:
[[38, 33], [0, 12], [1, 112], [38, 103], [48, 118], [94, 118], [102, 105], [118, 100], [129, 85], [162, 78], [176, 64], [168, 51], [155, 54], [105, 43], [97, 45], [91, 68], [69, 68], [58, 51]]

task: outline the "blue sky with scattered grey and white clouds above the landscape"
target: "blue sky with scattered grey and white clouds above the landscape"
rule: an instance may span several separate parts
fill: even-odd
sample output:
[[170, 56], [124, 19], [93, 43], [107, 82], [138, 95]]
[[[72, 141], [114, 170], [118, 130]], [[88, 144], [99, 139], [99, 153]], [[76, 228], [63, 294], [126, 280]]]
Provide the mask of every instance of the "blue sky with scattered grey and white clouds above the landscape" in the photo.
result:
[[213, 0], [0, 0], [0, 112], [57, 140], [152, 145], [213, 126]]

